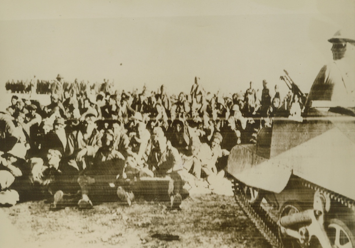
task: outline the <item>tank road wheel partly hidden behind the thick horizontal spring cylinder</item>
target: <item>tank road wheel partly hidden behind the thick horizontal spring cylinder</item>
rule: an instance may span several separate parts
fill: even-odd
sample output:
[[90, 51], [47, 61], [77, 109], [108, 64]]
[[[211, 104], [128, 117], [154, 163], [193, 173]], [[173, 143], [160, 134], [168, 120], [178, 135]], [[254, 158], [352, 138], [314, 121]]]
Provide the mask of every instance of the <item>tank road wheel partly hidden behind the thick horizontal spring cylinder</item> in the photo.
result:
[[[281, 219], [283, 216], [286, 215], [292, 215], [295, 213], [299, 213], [301, 211], [301, 208], [297, 204], [286, 204], [283, 206], [283, 208], [280, 211], [280, 216], [279, 219]], [[298, 230], [299, 228], [295, 226], [295, 230]], [[280, 241], [285, 248], [302, 248], [300, 242], [298, 239], [295, 239], [293, 237], [284, 235], [281, 233], [281, 229], [279, 228], [279, 238]]]

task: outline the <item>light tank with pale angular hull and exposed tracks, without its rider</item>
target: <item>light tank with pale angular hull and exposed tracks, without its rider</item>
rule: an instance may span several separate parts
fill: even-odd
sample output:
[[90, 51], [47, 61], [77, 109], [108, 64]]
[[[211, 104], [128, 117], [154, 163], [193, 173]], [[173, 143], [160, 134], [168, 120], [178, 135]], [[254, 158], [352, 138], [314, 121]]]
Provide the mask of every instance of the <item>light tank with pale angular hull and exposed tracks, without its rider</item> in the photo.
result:
[[313, 101], [230, 152], [236, 201], [273, 247], [355, 247], [355, 114], [337, 106]]

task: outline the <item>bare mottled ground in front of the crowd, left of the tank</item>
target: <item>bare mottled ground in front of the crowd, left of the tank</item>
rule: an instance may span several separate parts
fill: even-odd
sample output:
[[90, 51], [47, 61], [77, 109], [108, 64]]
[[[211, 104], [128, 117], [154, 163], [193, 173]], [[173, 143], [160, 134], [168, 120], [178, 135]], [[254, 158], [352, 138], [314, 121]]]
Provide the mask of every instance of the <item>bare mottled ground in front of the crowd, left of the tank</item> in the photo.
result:
[[269, 247], [233, 196], [194, 194], [181, 209], [144, 201], [90, 210], [50, 211], [44, 201], [2, 208], [26, 247]]

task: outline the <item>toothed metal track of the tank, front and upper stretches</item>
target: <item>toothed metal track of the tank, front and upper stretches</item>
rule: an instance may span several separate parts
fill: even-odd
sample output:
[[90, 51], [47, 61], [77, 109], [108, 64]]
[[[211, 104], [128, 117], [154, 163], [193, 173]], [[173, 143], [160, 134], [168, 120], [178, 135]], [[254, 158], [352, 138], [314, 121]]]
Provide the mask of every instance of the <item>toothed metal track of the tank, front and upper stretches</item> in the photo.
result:
[[[323, 187], [315, 185], [304, 179], [301, 179], [302, 186], [312, 189], [314, 192], [320, 191], [321, 193], [328, 194], [330, 198], [334, 201], [341, 203], [344, 207], [347, 207], [355, 212], [355, 201], [339, 195], [335, 192], [329, 191]], [[266, 211], [261, 204], [252, 205], [247, 201], [247, 198], [242, 190], [238, 180], [233, 180], [233, 192], [236, 202], [240, 205], [245, 214], [254, 223], [256, 228], [266, 239], [266, 241], [271, 244], [273, 248], [284, 248], [282, 242], [279, 239], [279, 226], [277, 224], [278, 216], [275, 216], [270, 211]]]

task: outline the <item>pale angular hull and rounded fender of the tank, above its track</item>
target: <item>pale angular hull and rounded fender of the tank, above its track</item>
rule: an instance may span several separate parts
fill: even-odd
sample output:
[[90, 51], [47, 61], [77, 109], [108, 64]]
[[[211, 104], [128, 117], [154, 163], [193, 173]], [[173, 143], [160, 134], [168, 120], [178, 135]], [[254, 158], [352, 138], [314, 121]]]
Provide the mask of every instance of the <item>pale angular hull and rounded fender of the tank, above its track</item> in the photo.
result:
[[258, 145], [235, 146], [228, 173], [274, 193], [280, 193], [295, 175], [355, 199], [355, 118], [333, 119], [276, 120], [269, 154], [261, 153], [266, 148]]

